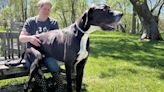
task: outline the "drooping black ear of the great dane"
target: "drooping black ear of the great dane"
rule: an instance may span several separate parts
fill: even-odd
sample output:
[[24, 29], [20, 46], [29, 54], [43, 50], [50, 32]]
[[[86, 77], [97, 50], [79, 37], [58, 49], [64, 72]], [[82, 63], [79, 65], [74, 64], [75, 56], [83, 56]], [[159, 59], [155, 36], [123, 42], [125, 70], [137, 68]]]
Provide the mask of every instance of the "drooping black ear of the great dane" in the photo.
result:
[[87, 26], [87, 24], [88, 24], [89, 16], [91, 15], [92, 11], [93, 11], [93, 8], [90, 7], [88, 10], [86, 10], [86, 11], [84, 12], [84, 14], [83, 14], [83, 16], [82, 16], [82, 20], [83, 20], [83, 22], [84, 22], [84, 28], [85, 28], [85, 27]]

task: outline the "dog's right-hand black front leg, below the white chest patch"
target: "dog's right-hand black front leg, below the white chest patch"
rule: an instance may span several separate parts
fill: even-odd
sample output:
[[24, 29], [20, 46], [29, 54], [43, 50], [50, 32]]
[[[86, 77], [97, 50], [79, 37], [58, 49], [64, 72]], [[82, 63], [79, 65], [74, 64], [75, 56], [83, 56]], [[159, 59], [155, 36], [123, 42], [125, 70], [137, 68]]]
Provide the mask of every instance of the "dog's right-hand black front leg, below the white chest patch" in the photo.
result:
[[82, 86], [83, 70], [85, 66], [86, 59], [79, 62], [76, 67], [76, 92], [80, 92]]

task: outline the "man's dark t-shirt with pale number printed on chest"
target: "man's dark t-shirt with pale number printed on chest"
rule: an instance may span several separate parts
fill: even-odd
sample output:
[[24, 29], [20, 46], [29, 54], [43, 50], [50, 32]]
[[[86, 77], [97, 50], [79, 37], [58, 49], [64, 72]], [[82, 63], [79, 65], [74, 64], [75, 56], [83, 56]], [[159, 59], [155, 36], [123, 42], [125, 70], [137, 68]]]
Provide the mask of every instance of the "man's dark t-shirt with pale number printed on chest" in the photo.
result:
[[[40, 34], [42, 32], [59, 29], [58, 22], [50, 17], [46, 21], [38, 21], [36, 16], [28, 18], [24, 23], [22, 31], [28, 32], [30, 35]], [[27, 44], [27, 47], [31, 47]]]

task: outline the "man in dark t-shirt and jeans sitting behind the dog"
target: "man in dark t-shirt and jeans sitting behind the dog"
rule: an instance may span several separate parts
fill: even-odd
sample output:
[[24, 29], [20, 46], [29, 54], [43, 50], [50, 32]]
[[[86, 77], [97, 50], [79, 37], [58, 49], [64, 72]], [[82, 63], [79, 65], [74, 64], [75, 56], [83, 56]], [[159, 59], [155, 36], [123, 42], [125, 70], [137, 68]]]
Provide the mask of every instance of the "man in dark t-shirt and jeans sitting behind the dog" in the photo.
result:
[[[58, 23], [54, 19], [49, 17], [52, 4], [50, 0], [40, 0], [38, 2], [39, 6], [39, 13], [37, 16], [28, 18], [24, 23], [23, 29], [20, 33], [19, 40], [22, 43], [27, 43], [27, 47], [30, 48], [30, 44], [35, 46], [40, 46], [41, 41], [36, 37], [36, 34], [47, 32], [50, 30], [58, 29]], [[34, 61], [34, 56], [30, 55], [30, 57], [26, 58], [26, 67], [29, 69], [30, 65]], [[55, 82], [58, 85], [56, 92], [61, 92], [63, 89], [62, 80], [59, 75], [59, 65], [57, 64], [57, 60], [52, 57], [45, 57], [44, 65], [48, 68], [51, 72]], [[45, 86], [45, 82], [39, 82], [41, 76], [36, 74], [34, 76], [35, 80], [38, 84], [43, 88]], [[47, 90], [47, 89], [43, 89]]]

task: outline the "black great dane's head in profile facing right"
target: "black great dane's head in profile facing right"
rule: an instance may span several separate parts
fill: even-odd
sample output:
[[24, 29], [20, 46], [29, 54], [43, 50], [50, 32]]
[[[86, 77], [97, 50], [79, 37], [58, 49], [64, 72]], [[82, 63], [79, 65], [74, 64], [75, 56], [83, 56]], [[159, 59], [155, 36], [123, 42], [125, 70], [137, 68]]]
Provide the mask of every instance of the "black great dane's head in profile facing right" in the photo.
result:
[[83, 15], [84, 26], [99, 26], [103, 30], [112, 30], [120, 21], [123, 13], [112, 11], [106, 4], [92, 5]]

